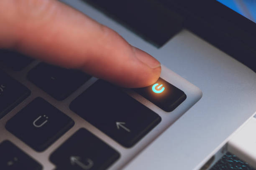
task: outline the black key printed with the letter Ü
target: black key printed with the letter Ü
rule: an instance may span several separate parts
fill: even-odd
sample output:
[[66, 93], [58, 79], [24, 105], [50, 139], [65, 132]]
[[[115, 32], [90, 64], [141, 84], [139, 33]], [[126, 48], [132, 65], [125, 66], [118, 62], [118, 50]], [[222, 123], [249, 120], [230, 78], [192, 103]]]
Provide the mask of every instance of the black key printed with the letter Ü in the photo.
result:
[[5, 125], [13, 135], [37, 151], [43, 151], [74, 125], [74, 121], [38, 97]]

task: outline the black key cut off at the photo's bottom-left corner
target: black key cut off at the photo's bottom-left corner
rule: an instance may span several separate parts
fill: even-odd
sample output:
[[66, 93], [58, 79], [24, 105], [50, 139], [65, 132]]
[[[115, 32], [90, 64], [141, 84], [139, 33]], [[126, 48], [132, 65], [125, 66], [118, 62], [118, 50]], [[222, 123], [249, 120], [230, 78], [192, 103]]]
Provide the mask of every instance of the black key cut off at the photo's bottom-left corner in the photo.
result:
[[5, 140], [0, 143], [1, 170], [41, 170], [42, 166], [22, 150]]

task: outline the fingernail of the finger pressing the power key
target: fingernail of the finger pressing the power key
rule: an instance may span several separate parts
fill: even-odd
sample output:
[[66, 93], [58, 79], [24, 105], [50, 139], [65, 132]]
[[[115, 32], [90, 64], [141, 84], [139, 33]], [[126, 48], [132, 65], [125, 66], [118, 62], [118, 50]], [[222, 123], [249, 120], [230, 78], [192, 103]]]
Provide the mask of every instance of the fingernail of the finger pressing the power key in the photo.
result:
[[148, 65], [148, 67], [150, 68], [156, 68], [161, 66], [161, 63], [156, 60], [154, 57], [152, 57], [151, 55], [149, 55], [148, 53], [136, 48], [136, 47], [132, 47], [133, 51], [135, 53], [135, 56], [141, 60], [143, 63], [145, 63], [146, 65]]

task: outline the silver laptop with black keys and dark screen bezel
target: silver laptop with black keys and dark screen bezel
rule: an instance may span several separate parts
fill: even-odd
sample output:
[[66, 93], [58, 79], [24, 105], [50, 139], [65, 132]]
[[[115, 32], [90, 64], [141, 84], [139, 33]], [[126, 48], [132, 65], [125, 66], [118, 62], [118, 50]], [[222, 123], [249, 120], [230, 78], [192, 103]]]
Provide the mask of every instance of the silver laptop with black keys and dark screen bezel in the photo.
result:
[[61, 1], [156, 57], [160, 79], [123, 89], [2, 52], [0, 169], [214, 166], [256, 111], [256, 23], [216, 0]]

